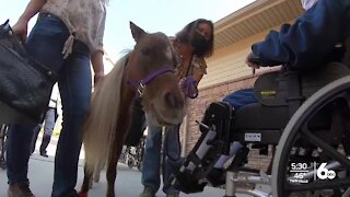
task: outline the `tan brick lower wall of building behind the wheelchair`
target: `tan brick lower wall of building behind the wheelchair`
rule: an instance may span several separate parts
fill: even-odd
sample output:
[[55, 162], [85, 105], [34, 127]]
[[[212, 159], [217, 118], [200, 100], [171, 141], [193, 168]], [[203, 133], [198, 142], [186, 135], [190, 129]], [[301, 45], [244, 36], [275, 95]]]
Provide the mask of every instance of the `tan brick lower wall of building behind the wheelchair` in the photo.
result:
[[[222, 97], [224, 97], [229, 93], [245, 88], [252, 88], [256, 78], [256, 76], [245, 77], [228, 83], [222, 83], [202, 89], [199, 91], [199, 96], [196, 100], [189, 101], [187, 108], [188, 113], [186, 138], [184, 138], [184, 125], [186, 124], [183, 124], [183, 127], [180, 128], [182, 142], [184, 142], [184, 139], [186, 139], [186, 154], [188, 154], [189, 151], [195, 147], [198, 138], [201, 135], [198, 125], [196, 124], [196, 120], [202, 119], [207, 106], [209, 106], [209, 104], [212, 102], [221, 101]], [[266, 169], [270, 162], [270, 154], [271, 153], [269, 151], [269, 157], [259, 155], [258, 150], [250, 150], [247, 166]]]

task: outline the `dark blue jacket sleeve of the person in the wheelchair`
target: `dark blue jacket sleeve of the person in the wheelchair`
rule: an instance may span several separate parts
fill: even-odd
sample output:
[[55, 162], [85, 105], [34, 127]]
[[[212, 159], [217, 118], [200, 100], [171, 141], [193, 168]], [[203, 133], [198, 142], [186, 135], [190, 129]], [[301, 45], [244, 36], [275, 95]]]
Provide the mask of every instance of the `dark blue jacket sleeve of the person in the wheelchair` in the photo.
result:
[[294, 24], [271, 31], [252, 50], [262, 66], [288, 63], [295, 68], [320, 65], [337, 43], [350, 34], [350, 0], [318, 0]]

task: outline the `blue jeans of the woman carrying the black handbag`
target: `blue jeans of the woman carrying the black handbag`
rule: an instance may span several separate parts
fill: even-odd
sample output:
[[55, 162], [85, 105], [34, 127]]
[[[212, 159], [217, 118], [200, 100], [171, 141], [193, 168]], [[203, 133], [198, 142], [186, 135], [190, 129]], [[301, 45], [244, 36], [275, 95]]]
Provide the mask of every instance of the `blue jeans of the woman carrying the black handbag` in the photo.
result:
[[[58, 18], [40, 14], [26, 43], [28, 54], [59, 73], [63, 123], [55, 157], [55, 197], [75, 192], [81, 130], [92, 89], [88, 47], [82, 43], [74, 43], [73, 53], [63, 59], [61, 51], [68, 36], [68, 28]], [[11, 126], [7, 152], [9, 184], [28, 181], [28, 159], [35, 126], [37, 125]]]

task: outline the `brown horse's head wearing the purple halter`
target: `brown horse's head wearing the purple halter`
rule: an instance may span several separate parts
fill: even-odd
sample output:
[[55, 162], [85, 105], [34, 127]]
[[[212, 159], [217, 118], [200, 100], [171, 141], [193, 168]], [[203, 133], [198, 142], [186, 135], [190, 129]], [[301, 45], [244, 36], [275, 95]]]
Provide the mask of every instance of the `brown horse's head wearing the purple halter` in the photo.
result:
[[178, 63], [168, 37], [149, 34], [130, 22], [137, 42], [129, 57], [127, 78], [138, 89], [144, 111], [156, 125], [179, 124], [185, 115], [185, 97], [175, 77]]

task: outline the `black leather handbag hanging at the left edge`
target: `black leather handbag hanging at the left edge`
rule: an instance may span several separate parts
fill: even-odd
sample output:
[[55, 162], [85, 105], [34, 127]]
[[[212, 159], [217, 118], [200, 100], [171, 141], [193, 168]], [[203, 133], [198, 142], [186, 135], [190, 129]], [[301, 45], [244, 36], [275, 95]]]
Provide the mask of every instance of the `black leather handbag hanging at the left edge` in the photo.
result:
[[57, 74], [28, 56], [9, 21], [0, 25], [0, 102], [42, 123], [56, 81]]

